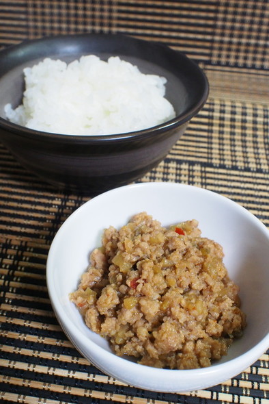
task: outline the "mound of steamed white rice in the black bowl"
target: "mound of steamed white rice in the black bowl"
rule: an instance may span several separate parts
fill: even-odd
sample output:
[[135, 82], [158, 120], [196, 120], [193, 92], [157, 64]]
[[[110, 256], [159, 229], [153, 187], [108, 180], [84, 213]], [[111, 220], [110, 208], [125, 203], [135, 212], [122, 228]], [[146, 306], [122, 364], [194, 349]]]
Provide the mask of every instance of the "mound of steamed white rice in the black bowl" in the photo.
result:
[[95, 55], [70, 64], [44, 59], [25, 68], [23, 104], [5, 105], [13, 123], [59, 134], [120, 134], [159, 125], [175, 116], [165, 99], [167, 79], [137, 66]]

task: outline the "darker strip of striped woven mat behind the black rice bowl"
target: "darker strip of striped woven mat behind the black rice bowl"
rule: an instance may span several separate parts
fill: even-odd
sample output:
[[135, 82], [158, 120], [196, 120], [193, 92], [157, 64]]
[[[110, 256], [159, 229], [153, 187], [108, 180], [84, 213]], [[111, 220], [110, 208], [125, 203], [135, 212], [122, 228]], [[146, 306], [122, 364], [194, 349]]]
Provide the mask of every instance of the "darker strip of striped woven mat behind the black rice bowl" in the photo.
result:
[[267, 0], [1, 0], [0, 46], [27, 38], [119, 32], [191, 58], [268, 69]]

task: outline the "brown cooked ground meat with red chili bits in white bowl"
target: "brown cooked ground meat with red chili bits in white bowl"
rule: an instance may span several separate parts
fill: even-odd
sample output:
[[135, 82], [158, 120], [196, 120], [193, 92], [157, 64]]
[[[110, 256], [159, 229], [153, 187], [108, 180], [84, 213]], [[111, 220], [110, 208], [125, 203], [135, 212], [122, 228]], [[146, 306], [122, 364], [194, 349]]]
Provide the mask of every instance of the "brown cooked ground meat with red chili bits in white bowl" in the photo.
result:
[[197, 220], [165, 228], [145, 212], [104, 230], [70, 299], [117, 355], [158, 368], [210, 366], [246, 325], [221, 246]]

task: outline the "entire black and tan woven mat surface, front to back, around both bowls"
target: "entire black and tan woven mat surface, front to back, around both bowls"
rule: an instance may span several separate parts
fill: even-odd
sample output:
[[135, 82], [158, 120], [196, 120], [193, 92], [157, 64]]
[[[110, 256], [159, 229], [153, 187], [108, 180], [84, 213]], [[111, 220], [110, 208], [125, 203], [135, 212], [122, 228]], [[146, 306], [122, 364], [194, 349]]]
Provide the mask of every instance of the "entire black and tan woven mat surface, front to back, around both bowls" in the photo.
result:
[[[0, 1], [0, 47], [41, 36], [120, 32], [196, 60], [210, 97], [169, 155], [138, 182], [207, 188], [269, 229], [267, 0]], [[139, 390], [89, 364], [57, 323], [46, 257], [64, 220], [89, 197], [59, 192], [0, 144], [0, 402], [29, 404], [269, 403], [269, 351], [206, 390]]]

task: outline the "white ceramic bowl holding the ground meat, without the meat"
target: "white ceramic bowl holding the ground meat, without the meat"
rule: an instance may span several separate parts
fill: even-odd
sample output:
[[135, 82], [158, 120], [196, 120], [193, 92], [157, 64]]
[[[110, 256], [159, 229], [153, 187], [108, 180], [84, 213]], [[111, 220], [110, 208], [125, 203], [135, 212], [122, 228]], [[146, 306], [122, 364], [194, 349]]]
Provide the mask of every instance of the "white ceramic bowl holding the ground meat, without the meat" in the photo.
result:
[[[107, 341], [90, 331], [68, 294], [86, 270], [89, 253], [104, 228], [122, 227], [147, 212], [162, 225], [199, 220], [202, 236], [219, 242], [229, 276], [240, 286], [246, 313], [244, 335], [220, 362], [193, 370], [149, 368], [117, 357]], [[224, 382], [251, 366], [269, 346], [269, 231], [253, 214], [214, 192], [171, 183], [124, 186], [100, 194], [74, 212], [57, 232], [48, 253], [47, 284], [55, 314], [68, 338], [89, 362], [137, 388], [187, 392]]]

